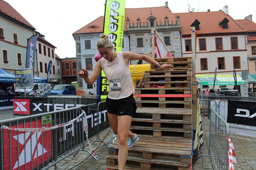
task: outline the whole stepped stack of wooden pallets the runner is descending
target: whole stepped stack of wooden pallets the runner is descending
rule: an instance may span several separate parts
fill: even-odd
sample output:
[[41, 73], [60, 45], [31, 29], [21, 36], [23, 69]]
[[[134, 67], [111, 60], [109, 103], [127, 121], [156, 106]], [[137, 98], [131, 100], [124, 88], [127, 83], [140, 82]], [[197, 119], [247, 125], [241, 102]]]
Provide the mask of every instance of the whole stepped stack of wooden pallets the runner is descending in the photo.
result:
[[[191, 154], [191, 57], [156, 61], [174, 69], [152, 67], [144, 88], [135, 89], [138, 117], [130, 130], [140, 140], [128, 149], [125, 170], [189, 170], [183, 157]], [[107, 169], [118, 170], [118, 142], [108, 149]]]

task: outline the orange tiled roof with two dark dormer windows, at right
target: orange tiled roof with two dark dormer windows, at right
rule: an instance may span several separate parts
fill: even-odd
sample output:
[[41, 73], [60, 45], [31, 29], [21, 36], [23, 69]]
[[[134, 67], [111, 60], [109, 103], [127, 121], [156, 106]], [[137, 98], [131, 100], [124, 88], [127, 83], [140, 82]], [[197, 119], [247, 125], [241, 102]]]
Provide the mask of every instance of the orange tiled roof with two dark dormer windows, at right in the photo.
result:
[[[174, 15], [180, 16], [181, 32], [183, 35], [191, 34], [191, 23], [196, 19], [200, 22], [197, 34], [246, 32], [242, 26], [223, 11], [174, 13]], [[224, 18], [229, 20], [228, 29], [223, 29], [219, 25]]]

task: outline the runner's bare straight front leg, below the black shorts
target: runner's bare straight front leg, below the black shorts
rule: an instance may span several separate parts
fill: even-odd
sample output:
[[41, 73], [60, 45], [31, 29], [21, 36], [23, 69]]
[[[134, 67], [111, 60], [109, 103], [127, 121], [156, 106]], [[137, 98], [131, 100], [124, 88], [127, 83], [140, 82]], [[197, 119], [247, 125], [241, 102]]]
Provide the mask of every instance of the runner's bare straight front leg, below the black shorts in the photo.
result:
[[117, 137], [118, 137], [118, 145], [119, 145], [118, 169], [124, 170], [124, 166], [125, 166], [127, 155], [128, 155], [127, 138], [129, 134], [132, 117], [124, 115], [124, 116], [117, 116], [117, 119], [118, 119]]

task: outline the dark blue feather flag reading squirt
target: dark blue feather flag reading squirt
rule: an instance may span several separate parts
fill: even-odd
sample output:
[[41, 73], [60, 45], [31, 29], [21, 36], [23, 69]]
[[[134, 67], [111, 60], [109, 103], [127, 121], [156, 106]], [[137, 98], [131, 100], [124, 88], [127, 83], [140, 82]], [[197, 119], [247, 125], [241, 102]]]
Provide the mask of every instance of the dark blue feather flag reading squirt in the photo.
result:
[[26, 68], [33, 68], [35, 64], [35, 54], [36, 54], [36, 42], [38, 35], [33, 35], [28, 39], [27, 45], [27, 58], [26, 58]]

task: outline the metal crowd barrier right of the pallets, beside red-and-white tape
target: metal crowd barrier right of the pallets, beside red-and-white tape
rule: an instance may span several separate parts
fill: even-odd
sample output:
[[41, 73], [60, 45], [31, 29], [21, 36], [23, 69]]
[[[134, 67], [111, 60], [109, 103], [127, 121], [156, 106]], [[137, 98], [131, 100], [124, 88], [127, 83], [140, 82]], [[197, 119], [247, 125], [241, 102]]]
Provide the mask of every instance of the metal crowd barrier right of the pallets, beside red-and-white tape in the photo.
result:
[[210, 109], [210, 134], [209, 134], [209, 155], [212, 157], [216, 170], [228, 170], [228, 138], [229, 126], [220, 115]]

